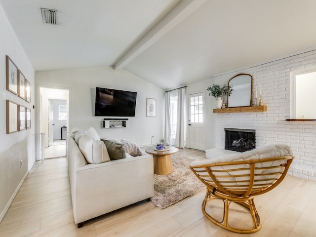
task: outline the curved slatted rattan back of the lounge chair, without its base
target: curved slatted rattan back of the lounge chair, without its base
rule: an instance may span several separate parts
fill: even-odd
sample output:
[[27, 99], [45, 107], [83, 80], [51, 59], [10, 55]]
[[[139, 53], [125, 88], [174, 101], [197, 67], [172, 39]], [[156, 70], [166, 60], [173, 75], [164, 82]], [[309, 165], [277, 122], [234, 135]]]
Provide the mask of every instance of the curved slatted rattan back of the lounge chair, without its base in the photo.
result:
[[[264, 194], [284, 178], [291, 156], [232, 161], [190, 167], [199, 180], [211, 190], [230, 197]], [[271, 165], [271, 163], [275, 163]]]

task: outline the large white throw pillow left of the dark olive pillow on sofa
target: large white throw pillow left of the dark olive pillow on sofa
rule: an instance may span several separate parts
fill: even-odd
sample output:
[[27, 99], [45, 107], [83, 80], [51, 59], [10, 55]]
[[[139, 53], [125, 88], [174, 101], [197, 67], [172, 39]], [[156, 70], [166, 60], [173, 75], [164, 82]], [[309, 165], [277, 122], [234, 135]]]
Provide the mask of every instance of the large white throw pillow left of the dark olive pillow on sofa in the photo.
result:
[[105, 144], [88, 135], [80, 137], [79, 149], [89, 164], [98, 164], [110, 160]]

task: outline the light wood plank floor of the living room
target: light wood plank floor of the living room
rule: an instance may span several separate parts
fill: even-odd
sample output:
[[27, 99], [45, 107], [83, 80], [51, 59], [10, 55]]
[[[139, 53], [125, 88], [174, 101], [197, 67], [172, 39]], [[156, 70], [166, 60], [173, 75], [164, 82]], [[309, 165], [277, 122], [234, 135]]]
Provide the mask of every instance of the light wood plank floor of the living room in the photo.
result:
[[[180, 153], [191, 157], [205, 157], [203, 152], [196, 150], [185, 149], [180, 150]], [[92, 219], [81, 229], [77, 229], [72, 213], [66, 159], [37, 161], [0, 223], [0, 236], [316, 236], [316, 182], [314, 181], [287, 176], [271, 192], [255, 197], [262, 220], [262, 229], [254, 234], [235, 234], [207, 220], [201, 212], [204, 194], [205, 191], [201, 191], [162, 210], [152, 202], [141, 201]], [[242, 211], [233, 213], [230, 218], [232, 218], [232, 223], [247, 224]]]

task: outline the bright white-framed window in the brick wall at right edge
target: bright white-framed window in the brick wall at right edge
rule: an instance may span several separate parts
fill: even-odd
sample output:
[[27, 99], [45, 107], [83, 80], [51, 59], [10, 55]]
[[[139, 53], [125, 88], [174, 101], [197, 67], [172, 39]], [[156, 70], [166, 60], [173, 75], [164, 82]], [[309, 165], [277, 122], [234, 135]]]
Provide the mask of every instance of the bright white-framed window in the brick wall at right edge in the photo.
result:
[[[291, 118], [315, 119], [316, 110], [311, 101], [316, 88], [316, 69], [292, 74]], [[312, 103], [311, 103], [312, 102]]]

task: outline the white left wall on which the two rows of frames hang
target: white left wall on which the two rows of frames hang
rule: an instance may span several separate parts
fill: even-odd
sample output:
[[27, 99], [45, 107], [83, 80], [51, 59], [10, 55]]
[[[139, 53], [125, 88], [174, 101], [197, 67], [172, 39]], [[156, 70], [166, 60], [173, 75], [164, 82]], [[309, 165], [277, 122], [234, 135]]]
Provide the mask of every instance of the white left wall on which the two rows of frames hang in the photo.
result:
[[[34, 70], [17, 39], [0, 5], [0, 220], [3, 218], [13, 197], [28, 170], [35, 162], [34, 157]], [[31, 103], [6, 90], [5, 55], [22, 71], [31, 83]], [[31, 109], [31, 129], [6, 134], [6, 100]], [[23, 166], [20, 167], [22, 160]]]

